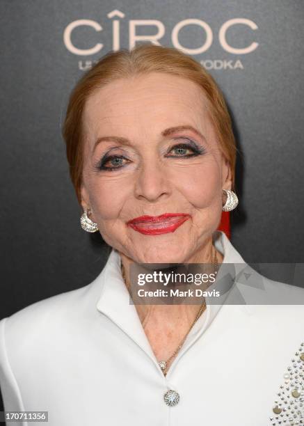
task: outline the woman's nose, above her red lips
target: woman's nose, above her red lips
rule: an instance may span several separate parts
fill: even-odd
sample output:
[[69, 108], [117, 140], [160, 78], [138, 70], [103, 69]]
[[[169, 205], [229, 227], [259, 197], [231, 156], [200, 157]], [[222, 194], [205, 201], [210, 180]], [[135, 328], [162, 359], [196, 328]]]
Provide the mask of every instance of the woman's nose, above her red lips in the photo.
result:
[[170, 182], [166, 166], [160, 161], [151, 159], [143, 161], [138, 169], [134, 184], [134, 195], [136, 198], [145, 198], [150, 202], [157, 201], [160, 197], [170, 195]]

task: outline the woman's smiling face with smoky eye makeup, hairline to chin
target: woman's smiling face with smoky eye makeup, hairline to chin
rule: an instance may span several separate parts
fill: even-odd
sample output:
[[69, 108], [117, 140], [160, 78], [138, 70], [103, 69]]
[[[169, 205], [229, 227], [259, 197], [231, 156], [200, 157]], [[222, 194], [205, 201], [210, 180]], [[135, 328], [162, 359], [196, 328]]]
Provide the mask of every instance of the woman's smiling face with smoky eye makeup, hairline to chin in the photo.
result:
[[[113, 81], [83, 111], [82, 206], [135, 262], [187, 262], [218, 227], [225, 161], [192, 81], [163, 73]], [[161, 223], [140, 216], [181, 214]]]

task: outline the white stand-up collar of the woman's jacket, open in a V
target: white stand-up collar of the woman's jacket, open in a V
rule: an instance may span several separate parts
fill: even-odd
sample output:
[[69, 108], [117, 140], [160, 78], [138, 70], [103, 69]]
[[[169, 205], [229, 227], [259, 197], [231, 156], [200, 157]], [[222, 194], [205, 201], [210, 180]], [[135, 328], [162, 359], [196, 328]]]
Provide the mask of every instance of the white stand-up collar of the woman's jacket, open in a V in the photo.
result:
[[[237, 273], [242, 267], [241, 265], [246, 266], [245, 261], [234, 248], [234, 246], [232, 246], [232, 243], [224, 232], [214, 232], [213, 239], [214, 245], [218, 251], [223, 254], [223, 263], [234, 264]], [[220, 273], [221, 268], [218, 271], [218, 274]], [[217, 279], [218, 278], [219, 276], [217, 276]], [[102, 289], [96, 305], [97, 310], [99, 310], [99, 312], [103, 315], [106, 315], [106, 317], [111, 319], [112, 322], [120, 327], [120, 329], [124, 331], [132, 340], [134, 340], [134, 342], [136, 342], [137, 345], [141, 347], [141, 349], [143, 349], [143, 351], [148, 356], [150, 356], [150, 358], [152, 358], [154, 363], [157, 364], [157, 359], [154, 356], [150, 342], [147, 340], [147, 336], [143, 330], [141, 320], [138, 317], [136, 306], [130, 303], [129, 292], [125, 286], [125, 282], [123, 281], [121, 274], [120, 254], [117, 250], [115, 250], [115, 248], [112, 248], [102, 273], [97, 276], [95, 281], [97, 281], [96, 284]], [[221, 309], [221, 306], [223, 305], [226, 297], [224, 297], [218, 305], [208, 304], [207, 302], [207, 308], [205, 309], [205, 312], [201, 315], [200, 319], [191, 329], [191, 332], [187, 336], [183, 348], [175, 358], [175, 361], [177, 361], [177, 358], [182, 356], [186, 349], [189, 349], [195, 340], [197, 340], [198, 337], [201, 336], [201, 334], [210, 326], [214, 317], [216, 317], [218, 311]], [[241, 308], [244, 313], [251, 312], [250, 308], [248, 308], [246, 304], [237, 305], [237, 307]], [[158, 364], [157, 368], [159, 368]]]

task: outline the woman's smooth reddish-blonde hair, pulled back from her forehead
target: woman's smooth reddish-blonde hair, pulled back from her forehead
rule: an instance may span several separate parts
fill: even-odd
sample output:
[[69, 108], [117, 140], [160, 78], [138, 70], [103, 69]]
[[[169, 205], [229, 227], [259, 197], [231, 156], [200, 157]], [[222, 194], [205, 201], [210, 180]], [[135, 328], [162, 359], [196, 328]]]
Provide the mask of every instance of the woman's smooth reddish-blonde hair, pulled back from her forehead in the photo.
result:
[[229, 161], [234, 189], [236, 143], [232, 122], [223, 94], [213, 77], [191, 56], [173, 47], [141, 44], [131, 51], [121, 49], [104, 55], [72, 90], [63, 124], [63, 139], [66, 144], [70, 178], [81, 204], [81, 180], [83, 171], [82, 116], [86, 100], [97, 88], [102, 88], [115, 79], [134, 77], [149, 72], [165, 72], [196, 83], [208, 100], [209, 116], [214, 125], [221, 150]]

